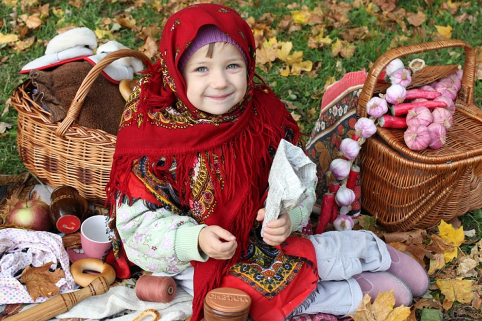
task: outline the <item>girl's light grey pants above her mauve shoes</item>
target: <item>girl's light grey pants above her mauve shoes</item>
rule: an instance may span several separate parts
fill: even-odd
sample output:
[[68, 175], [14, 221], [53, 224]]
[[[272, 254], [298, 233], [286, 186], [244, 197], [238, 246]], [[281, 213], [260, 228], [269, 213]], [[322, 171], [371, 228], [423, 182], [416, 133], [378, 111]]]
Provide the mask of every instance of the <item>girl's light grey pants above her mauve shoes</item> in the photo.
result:
[[392, 260], [385, 243], [364, 230], [326, 232], [309, 238], [316, 251], [320, 281], [293, 315], [355, 313], [362, 295], [353, 275], [387, 270]]

